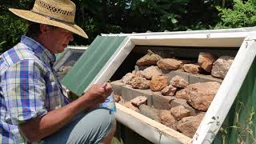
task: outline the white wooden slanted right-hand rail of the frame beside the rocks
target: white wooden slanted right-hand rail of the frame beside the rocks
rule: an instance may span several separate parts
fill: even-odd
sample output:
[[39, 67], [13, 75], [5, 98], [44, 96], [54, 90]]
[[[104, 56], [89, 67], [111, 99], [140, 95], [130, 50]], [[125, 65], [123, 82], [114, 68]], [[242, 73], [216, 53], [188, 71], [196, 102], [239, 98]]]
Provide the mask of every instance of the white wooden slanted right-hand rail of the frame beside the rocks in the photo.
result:
[[[255, 35], [245, 39], [226, 74], [214, 101], [210, 104], [205, 117], [202, 119], [200, 126], [193, 138], [193, 144], [210, 143], [214, 139], [213, 134], [217, 134], [222, 122], [226, 118], [234, 99], [236, 98], [243, 80], [254, 61], [256, 54]], [[214, 121], [213, 117], [216, 119]], [[219, 122], [219, 124], [217, 124]]]

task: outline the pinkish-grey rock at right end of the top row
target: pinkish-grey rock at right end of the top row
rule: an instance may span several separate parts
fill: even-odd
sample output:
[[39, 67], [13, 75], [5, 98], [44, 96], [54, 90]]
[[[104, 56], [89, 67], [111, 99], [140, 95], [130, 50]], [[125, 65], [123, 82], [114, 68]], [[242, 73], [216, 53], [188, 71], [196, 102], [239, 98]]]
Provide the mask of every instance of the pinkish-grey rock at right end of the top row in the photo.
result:
[[214, 62], [213, 69], [211, 70], [211, 75], [217, 78], [225, 78], [227, 71], [230, 69], [234, 57], [222, 56]]

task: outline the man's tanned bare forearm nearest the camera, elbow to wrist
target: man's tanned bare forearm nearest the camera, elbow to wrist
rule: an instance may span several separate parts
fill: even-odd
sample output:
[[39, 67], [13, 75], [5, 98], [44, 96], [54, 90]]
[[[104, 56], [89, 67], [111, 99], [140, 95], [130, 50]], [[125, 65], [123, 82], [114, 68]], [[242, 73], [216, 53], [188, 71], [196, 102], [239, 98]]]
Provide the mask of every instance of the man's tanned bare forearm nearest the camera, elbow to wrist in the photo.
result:
[[34, 118], [25, 122], [19, 128], [27, 140], [36, 142], [50, 134], [54, 134], [57, 130], [66, 126], [75, 115], [88, 108], [90, 108], [90, 102], [86, 98], [78, 98], [76, 101], [58, 110], [52, 110], [40, 118]]

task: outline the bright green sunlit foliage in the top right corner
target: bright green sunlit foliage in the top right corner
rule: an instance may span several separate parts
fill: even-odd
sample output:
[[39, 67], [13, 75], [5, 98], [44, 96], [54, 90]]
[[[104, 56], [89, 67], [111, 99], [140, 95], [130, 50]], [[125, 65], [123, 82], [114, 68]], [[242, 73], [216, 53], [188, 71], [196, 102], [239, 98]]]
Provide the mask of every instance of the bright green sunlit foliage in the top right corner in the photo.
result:
[[237, 28], [256, 25], [255, 0], [234, 0], [233, 9], [217, 7], [220, 11], [221, 22], [215, 28]]

